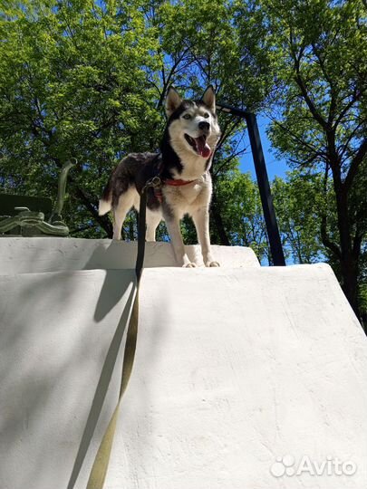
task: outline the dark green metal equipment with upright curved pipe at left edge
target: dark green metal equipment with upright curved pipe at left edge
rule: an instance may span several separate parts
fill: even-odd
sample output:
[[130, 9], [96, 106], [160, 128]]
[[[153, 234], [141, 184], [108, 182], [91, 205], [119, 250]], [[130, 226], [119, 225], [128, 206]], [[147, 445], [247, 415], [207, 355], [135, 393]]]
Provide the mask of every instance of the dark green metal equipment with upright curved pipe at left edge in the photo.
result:
[[0, 194], [0, 236], [69, 235], [61, 213], [66, 179], [72, 166], [72, 162], [67, 161], [61, 169], [54, 209], [51, 198]]

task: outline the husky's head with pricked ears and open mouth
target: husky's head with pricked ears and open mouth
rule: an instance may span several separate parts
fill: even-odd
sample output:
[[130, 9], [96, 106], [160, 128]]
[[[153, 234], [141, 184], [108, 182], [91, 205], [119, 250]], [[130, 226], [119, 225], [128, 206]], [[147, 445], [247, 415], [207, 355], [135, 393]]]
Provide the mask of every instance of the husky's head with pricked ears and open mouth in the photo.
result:
[[210, 85], [199, 101], [182, 100], [179, 93], [170, 87], [166, 113], [172, 148], [180, 155], [189, 152], [208, 159], [220, 137], [213, 87]]

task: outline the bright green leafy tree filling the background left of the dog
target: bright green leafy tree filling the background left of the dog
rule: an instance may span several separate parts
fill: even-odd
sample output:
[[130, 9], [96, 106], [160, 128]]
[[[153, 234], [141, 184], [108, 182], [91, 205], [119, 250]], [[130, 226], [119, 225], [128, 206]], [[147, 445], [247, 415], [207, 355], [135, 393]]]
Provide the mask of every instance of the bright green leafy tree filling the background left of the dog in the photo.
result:
[[[157, 146], [161, 127], [147, 71], [153, 28], [136, 2], [22, 3], [1, 17], [0, 179], [5, 190], [55, 195], [63, 162], [66, 218], [111, 235], [98, 196], [116, 161]], [[141, 128], [144, 128], [144, 132]]]

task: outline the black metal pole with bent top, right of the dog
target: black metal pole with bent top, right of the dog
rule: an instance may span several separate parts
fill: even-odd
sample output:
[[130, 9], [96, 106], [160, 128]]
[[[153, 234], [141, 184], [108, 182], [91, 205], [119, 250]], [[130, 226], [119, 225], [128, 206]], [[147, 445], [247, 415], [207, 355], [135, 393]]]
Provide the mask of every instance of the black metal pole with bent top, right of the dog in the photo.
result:
[[267, 177], [266, 162], [261, 145], [260, 133], [257, 127], [256, 116], [252, 112], [247, 112], [246, 110], [237, 109], [224, 104], [218, 103], [217, 108], [246, 119], [273, 264], [275, 264], [275, 266], [285, 266], [285, 254], [283, 253], [283, 246], [276, 222], [275, 208], [270, 191], [269, 179]]

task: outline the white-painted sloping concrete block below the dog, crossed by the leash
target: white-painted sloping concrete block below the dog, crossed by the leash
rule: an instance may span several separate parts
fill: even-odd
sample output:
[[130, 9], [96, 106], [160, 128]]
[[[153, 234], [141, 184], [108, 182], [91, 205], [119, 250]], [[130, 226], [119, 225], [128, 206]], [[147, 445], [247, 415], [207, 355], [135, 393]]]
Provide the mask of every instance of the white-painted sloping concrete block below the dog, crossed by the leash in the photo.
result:
[[[34, 239], [0, 240], [0, 488], [82, 489], [118, 397], [134, 273], [72, 267], [78, 240], [46, 264]], [[331, 268], [231, 253], [144, 271], [105, 488], [364, 489], [367, 343]]]

